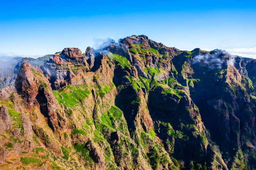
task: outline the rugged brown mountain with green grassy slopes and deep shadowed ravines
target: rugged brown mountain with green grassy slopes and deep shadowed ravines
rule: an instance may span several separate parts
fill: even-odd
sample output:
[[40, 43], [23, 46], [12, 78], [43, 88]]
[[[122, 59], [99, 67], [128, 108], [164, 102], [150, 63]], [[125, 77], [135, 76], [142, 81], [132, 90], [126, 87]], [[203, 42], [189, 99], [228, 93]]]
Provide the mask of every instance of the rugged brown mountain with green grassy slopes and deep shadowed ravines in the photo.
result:
[[256, 60], [133, 35], [18, 67], [0, 169], [256, 169]]

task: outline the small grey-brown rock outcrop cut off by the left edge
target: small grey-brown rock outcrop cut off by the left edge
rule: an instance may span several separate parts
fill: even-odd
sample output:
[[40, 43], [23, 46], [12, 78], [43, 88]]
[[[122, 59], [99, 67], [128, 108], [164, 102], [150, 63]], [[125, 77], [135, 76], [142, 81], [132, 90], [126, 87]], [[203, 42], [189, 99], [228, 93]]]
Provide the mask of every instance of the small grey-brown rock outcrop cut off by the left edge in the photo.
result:
[[8, 107], [6, 105], [2, 105], [0, 107], [0, 131], [4, 132], [6, 129], [10, 128], [11, 121], [10, 116], [8, 114]]

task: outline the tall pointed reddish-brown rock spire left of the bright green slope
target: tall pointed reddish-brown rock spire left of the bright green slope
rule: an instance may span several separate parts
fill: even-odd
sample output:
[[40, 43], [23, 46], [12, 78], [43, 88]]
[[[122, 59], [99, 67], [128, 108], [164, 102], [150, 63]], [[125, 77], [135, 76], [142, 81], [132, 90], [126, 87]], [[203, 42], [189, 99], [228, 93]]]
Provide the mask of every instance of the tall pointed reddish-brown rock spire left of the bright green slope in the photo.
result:
[[49, 127], [54, 131], [65, 128], [67, 118], [61, 112], [50, 83], [43, 77], [43, 71], [39, 67], [33, 67], [26, 62], [22, 63], [17, 73], [15, 87], [29, 110], [36, 107], [48, 119]]

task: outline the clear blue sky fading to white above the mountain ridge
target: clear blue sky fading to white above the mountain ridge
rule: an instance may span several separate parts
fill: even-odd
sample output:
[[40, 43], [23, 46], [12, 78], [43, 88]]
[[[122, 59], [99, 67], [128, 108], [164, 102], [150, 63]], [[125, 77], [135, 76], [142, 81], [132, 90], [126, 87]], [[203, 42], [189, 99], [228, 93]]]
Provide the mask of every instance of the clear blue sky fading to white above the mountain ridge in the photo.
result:
[[3, 1], [0, 59], [83, 52], [111, 38], [147, 35], [169, 47], [225, 49], [256, 58], [255, 1]]

